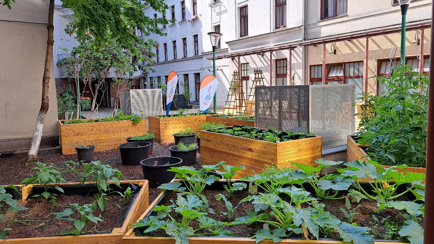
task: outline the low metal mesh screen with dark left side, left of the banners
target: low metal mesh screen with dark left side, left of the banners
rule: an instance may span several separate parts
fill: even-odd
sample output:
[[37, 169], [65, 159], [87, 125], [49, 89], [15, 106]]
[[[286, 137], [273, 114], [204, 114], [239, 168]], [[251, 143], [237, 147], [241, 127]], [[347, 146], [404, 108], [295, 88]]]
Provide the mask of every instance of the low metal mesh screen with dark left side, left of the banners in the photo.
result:
[[[132, 89], [121, 94], [121, 110], [128, 114], [161, 115], [163, 98], [161, 89]], [[124, 111], [125, 109], [125, 111]]]

